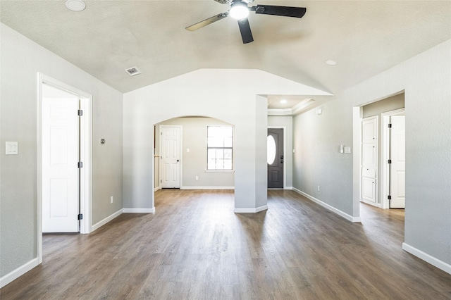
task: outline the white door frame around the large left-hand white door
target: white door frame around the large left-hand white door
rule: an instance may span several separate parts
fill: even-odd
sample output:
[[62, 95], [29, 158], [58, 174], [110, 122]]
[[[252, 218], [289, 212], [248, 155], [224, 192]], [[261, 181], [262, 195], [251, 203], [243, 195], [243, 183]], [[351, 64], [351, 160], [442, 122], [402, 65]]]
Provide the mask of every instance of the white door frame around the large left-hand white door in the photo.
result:
[[92, 95], [66, 85], [52, 77], [37, 73], [37, 257], [42, 263], [42, 84], [52, 85], [81, 99], [83, 118], [80, 123], [80, 233], [91, 232], [92, 227]]

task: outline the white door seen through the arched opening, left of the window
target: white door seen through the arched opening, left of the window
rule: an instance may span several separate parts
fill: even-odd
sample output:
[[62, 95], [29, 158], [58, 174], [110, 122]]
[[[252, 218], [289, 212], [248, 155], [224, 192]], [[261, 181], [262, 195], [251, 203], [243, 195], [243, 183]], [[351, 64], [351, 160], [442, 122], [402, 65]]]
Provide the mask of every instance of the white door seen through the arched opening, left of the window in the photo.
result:
[[180, 127], [160, 127], [160, 187], [180, 188]]

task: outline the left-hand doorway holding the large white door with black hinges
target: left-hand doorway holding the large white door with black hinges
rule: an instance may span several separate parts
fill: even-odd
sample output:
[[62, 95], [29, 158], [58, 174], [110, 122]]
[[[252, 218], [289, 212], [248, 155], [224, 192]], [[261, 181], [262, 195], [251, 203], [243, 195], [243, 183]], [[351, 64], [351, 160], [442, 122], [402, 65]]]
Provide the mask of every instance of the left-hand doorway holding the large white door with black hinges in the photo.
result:
[[38, 74], [37, 256], [43, 232], [91, 231], [92, 96]]

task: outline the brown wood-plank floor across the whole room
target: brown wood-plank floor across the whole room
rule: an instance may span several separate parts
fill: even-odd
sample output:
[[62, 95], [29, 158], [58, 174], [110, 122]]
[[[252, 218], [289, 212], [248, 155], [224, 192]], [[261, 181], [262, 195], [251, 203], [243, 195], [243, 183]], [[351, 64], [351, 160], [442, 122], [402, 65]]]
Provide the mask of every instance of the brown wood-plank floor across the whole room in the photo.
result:
[[156, 213], [44, 235], [6, 299], [451, 299], [451, 275], [401, 249], [404, 212], [351, 223], [292, 191], [233, 213], [233, 192], [165, 189]]

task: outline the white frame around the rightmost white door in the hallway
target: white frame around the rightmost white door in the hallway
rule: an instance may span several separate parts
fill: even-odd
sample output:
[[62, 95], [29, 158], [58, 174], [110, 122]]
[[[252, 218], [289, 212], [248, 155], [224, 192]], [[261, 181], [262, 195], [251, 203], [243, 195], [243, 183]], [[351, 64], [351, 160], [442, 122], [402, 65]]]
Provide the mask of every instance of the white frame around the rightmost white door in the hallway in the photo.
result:
[[389, 152], [390, 152], [390, 131], [388, 130], [388, 124], [390, 123], [390, 116], [392, 115], [405, 115], [405, 108], [396, 109], [395, 111], [387, 111], [386, 113], [382, 113], [382, 121], [381, 121], [381, 134], [382, 134], [382, 170], [381, 170], [381, 204], [382, 208], [388, 209], [390, 208], [390, 201], [388, 201], [388, 195], [390, 194], [390, 190], [388, 187], [390, 186], [390, 168], [388, 168]]

